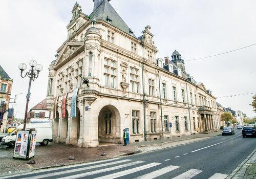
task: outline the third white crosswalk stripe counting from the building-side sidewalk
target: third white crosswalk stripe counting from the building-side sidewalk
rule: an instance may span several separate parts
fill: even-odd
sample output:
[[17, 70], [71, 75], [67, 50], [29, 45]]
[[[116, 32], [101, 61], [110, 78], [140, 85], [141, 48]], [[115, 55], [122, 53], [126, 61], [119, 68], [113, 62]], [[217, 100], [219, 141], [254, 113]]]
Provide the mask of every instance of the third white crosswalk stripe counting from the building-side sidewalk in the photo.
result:
[[136, 162], [132, 162], [132, 163], [118, 165], [118, 166], [115, 166], [115, 167], [103, 168], [103, 169], [100, 169], [100, 170], [89, 171], [89, 172], [86, 172], [86, 173], [80, 173], [80, 174], [66, 176], [66, 177], [61, 177], [61, 178], [62, 179], [71, 179], [71, 178], [86, 177], [86, 176], [90, 176], [90, 175], [94, 175], [94, 174], [98, 174], [98, 173], [103, 173], [103, 172], [107, 172], [107, 171], [112, 171], [112, 170], [116, 170], [116, 169], [120, 169], [120, 168], [124, 168], [124, 167], [129, 167], [129, 166], [141, 164], [143, 162], [144, 161], [136, 161]]

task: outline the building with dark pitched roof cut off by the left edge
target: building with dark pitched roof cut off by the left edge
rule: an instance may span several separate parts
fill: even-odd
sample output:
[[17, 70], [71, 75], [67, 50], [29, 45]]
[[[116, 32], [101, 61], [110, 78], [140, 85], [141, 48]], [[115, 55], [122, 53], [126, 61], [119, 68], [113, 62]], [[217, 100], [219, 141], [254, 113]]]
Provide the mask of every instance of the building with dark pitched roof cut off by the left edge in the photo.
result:
[[0, 133], [6, 131], [13, 80], [0, 65]]

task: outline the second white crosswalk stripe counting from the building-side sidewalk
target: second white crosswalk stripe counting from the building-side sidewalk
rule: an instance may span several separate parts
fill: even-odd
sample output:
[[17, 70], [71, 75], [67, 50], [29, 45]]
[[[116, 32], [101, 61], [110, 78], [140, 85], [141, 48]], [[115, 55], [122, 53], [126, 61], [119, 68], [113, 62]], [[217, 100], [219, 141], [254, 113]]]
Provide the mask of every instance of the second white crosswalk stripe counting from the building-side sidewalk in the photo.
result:
[[[56, 176], [56, 175], [61, 175], [61, 174], [73, 173], [73, 172], [77, 172], [77, 171], [89, 170], [89, 169], [93, 169], [93, 168], [104, 167], [104, 166], [108, 166], [108, 165], [120, 164], [120, 163], [123, 163], [123, 162], [129, 162], [129, 161], [132, 161], [132, 160], [126, 159], [126, 160], [110, 162], [110, 163], [100, 164], [100, 165], [93, 165], [93, 166], [89, 166], [89, 167], [82, 167], [82, 168], [77, 168], [77, 169], [72, 169], [72, 170], [51, 172], [51, 173], [39, 174], [39, 175], [36, 175], [36, 176], [30, 176], [30, 177], [25, 176], [25, 178], [26, 179], [30, 179], [30, 178], [31, 179], [37, 179], [37, 178], [43, 178], [43, 177], [50, 177], [50, 176]], [[20, 178], [24, 178], [24, 177], [20, 177]]]

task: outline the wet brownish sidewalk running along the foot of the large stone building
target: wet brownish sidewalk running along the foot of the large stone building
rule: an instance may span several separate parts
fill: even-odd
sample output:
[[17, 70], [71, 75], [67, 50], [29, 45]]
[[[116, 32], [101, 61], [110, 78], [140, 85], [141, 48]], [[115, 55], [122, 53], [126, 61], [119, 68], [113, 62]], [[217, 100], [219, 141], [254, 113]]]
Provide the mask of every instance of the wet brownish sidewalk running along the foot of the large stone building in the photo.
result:
[[[120, 144], [101, 143], [96, 148], [81, 148], [73, 145], [60, 143], [49, 143], [48, 146], [36, 146], [34, 160], [36, 164], [28, 165], [25, 160], [12, 159], [13, 149], [0, 146], [0, 174], [20, 172], [21, 170], [35, 170], [56, 166], [86, 163], [118, 156], [148, 152], [168, 147], [183, 145], [190, 142], [204, 140], [209, 137], [220, 135], [221, 132], [209, 134], [198, 134], [193, 136], [175, 137], [173, 141], [169, 139], [155, 140], [147, 142], [137, 142], [123, 146]], [[103, 145], [102, 145], [103, 144]], [[105, 156], [100, 154], [104, 152]], [[69, 156], [74, 156], [75, 160], [69, 160]]]

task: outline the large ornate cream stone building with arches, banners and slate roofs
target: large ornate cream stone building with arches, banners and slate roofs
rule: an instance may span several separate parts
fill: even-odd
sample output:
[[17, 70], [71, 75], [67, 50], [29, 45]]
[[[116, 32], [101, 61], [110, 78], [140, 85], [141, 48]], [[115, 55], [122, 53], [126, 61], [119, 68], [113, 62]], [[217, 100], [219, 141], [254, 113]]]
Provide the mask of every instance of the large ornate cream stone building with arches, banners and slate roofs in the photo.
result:
[[108, 0], [95, 0], [90, 15], [75, 4], [67, 29], [49, 67], [57, 142], [121, 143], [124, 128], [130, 142], [169, 138], [169, 122], [173, 136], [219, 129], [216, 98], [186, 73], [178, 51], [157, 59], [150, 26], [136, 37]]

